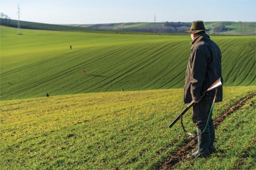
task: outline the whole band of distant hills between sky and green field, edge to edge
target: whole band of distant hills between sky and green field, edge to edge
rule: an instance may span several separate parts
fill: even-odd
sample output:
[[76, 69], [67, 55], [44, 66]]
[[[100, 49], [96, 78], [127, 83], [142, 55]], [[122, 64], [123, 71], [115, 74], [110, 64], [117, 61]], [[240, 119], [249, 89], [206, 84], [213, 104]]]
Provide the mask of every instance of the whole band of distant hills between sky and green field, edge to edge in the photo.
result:
[[[17, 27], [18, 21], [0, 19], [0, 25]], [[216, 21], [204, 22], [207, 33], [220, 35], [256, 35], [256, 22]], [[22, 29], [59, 30], [68, 32], [112, 32], [112, 33], [157, 33], [185, 34], [191, 22], [122, 22], [110, 24], [66, 24], [54, 25], [20, 21]]]

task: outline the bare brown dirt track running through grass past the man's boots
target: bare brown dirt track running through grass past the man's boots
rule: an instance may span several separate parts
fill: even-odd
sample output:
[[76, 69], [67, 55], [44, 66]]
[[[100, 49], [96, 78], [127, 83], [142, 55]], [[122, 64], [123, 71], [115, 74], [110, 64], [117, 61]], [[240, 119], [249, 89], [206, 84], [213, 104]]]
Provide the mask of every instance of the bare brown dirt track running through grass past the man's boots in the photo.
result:
[[[242, 98], [240, 101], [233, 104], [233, 106], [231, 106], [229, 109], [226, 109], [224, 110], [224, 112], [219, 114], [218, 117], [216, 117], [215, 120], [213, 120], [215, 129], [219, 127], [219, 125], [225, 120], [226, 117], [228, 117], [230, 114], [235, 112], [235, 110], [240, 109], [240, 107], [242, 107], [247, 100], [251, 99], [255, 95], [256, 95], [256, 92], [246, 95], [246, 97]], [[178, 163], [182, 163], [184, 160], [188, 159], [187, 155], [190, 154], [194, 148], [197, 148], [197, 138], [193, 138], [193, 139], [188, 138], [188, 140], [186, 140], [182, 144], [182, 146], [179, 146], [179, 148], [173, 155], [169, 155], [169, 157], [161, 165], [157, 166], [157, 168], [155, 169], [176, 169], [177, 166], [179, 165]]]

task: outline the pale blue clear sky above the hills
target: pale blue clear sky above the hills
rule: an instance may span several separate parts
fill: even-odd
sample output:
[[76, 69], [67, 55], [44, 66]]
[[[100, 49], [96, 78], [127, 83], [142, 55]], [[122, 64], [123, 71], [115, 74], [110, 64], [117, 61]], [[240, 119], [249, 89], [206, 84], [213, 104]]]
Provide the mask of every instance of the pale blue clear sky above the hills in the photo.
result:
[[255, 0], [0, 0], [11, 19], [47, 24], [256, 22]]

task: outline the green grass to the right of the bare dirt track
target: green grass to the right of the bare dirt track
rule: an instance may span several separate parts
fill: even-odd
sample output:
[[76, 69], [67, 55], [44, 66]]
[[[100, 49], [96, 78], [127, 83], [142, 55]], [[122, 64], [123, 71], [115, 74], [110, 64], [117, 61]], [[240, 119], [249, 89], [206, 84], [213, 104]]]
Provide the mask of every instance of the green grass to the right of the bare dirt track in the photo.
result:
[[193, 163], [185, 161], [178, 169], [255, 169], [255, 101], [247, 101], [216, 130], [218, 152]]

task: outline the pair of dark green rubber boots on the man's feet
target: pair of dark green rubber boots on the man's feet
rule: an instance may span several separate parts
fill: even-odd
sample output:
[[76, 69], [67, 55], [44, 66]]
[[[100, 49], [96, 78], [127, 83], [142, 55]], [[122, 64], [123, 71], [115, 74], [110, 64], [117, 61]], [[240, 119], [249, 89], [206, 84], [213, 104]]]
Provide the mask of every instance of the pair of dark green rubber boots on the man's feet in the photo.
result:
[[[204, 129], [196, 129], [197, 135], [201, 134]], [[193, 154], [189, 154], [188, 157], [190, 158], [196, 158], [196, 157], [207, 157], [210, 155], [210, 152], [208, 150], [208, 146], [210, 144], [210, 132], [209, 128], [205, 130], [205, 132], [199, 136], [197, 136], [197, 144], [198, 149]]]

